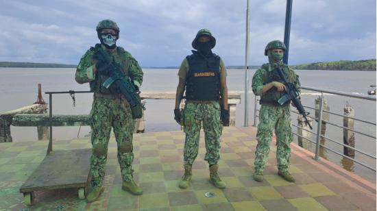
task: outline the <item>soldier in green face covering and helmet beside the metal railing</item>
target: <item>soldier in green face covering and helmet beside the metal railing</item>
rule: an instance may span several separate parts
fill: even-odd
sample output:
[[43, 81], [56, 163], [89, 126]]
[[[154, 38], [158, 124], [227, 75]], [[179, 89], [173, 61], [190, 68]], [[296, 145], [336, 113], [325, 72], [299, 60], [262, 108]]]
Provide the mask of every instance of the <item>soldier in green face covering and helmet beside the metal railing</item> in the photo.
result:
[[278, 149], [276, 158], [278, 160], [278, 175], [289, 182], [295, 179], [288, 171], [291, 148], [289, 144], [293, 140], [291, 131], [290, 101], [283, 105], [278, 103], [278, 99], [284, 94], [284, 84], [277, 82], [273, 78], [273, 71], [282, 68], [288, 82], [295, 85], [300, 91], [298, 75], [282, 62], [286, 47], [280, 40], [273, 40], [267, 44], [265, 55], [268, 55], [269, 63], [263, 64], [256, 71], [252, 79], [252, 90], [255, 95], [260, 95], [259, 124], [256, 132], [258, 145], [256, 146], [254, 160], [254, 179], [258, 182], [263, 181], [263, 169], [268, 159], [269, 145], [273, 129], [275, 129]]

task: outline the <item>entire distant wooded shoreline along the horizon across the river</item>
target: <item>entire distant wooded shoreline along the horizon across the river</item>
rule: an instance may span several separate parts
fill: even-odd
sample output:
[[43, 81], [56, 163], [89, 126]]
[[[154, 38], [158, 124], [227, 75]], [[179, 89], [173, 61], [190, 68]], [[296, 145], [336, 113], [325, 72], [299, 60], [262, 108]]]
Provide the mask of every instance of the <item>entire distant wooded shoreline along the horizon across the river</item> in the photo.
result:
[[[296, 70], [319, 71], [376, 71], [376, 60], [341, 60], [336, 62], [315, 62], [310, 64], [290, 65]], [[75, 64], [33, 63], [33, 62], [0, 62], [0, 67], [8, 68], [76, 68]], [[258, 69], [260, 66], [249, 66]], [[245, 69], [245, 66], [227, 66], [227, 69]], [[179, 66], [147, 66], [143, 69], [179, 69]]]

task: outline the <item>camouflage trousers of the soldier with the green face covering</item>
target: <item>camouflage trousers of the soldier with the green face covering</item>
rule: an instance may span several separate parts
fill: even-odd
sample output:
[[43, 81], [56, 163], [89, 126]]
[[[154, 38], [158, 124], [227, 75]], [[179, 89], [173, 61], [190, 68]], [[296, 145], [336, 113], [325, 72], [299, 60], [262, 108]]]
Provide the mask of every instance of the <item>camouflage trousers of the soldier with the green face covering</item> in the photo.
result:
[[288, 170], [291, 147], [293, 140], [291, 128], [291, 116], [289, 106], [262, 105], [259, 112], [259, 124], [256, 132], [256, 145], [254, 167], [256, 170], [265, 168], [268, 159], [269, 147], [272, 132], [275, 129], [276, 141], [278, 143], [276, 159], [280, 171]]

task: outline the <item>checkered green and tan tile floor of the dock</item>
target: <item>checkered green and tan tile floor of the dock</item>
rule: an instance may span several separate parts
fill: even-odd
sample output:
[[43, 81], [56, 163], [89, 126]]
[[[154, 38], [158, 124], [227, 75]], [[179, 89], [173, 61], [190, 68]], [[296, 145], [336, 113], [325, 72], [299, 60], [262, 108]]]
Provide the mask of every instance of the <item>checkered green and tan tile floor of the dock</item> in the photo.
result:
[[[77, 190], [37, 191], [25, 206], [19, 187], [45, 157], [47, 141], [0, 143], [0, 210], [376, 210], [376, 184], [345, 172], [308, 151], [292, 146], [289, 183], [277, 175], [276, 145], [271, 143], [265, 181], [252, 179], [255, 128], [225, 127], [219, 174], [227, 183], [219, 190], [208, 183], [204, 134], [193, 165], [191, 187], [182, 190], [183, 132], [147, 132], [134, 136], [134, 177], [141, 196], [121, 190], [117, 144], [110, 140], [105, 192], [99, 201], [77, 199]], [[88, 139], [53, 142], [53, 150], [90, 148]], [[205, 197], [205, 193], [215, 197]]]

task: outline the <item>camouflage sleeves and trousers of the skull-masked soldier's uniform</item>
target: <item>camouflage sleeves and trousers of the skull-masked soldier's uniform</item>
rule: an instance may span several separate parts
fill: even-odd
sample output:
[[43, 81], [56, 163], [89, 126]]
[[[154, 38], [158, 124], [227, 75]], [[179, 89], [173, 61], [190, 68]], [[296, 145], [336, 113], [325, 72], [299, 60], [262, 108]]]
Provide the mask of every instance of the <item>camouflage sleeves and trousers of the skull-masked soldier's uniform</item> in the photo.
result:
[[[143, 71], [130, 53], [121, 47], [113, 50], [107, 49], [104, 45], [101, 45], [101, 47], [110, 55], [113, 61], [121, 64], [122, 71], [129, 75], [136, 86], [141, 85]], [[93, 49], [89, 49], [82, 56], [76, 69], [75, 80], [79, 84], [94, 81], [96, 85], [93, 91], [102, 92], [104, 88], [102, 88], [101, 84], [105, 78], [98, 76], [97, 80], [95, 80], [93, 66], [96, 61], [92, 58], [93, 54]], [[90, 127], [92, 129], [91, 141], [93, 145], [93, 155], [90, 158], [92, 185], [102, 186], [111, 128], [117, 140], [118, 161], [121, 166], [123, 181], [130, 181], [133, 172], [132, 161], [134, 160], [134, 154], [132, 153], [134, 121], [129, 103], [123, 98], [102, 99], [95, 97], [90, 111]]]

